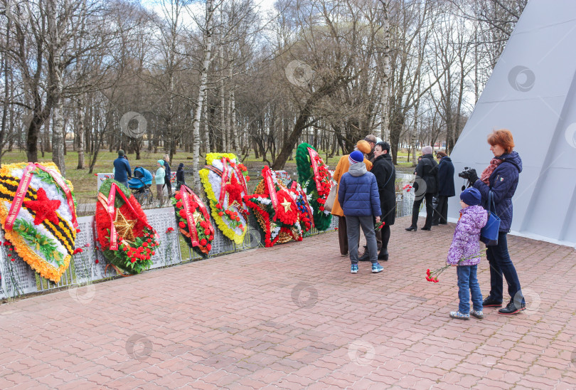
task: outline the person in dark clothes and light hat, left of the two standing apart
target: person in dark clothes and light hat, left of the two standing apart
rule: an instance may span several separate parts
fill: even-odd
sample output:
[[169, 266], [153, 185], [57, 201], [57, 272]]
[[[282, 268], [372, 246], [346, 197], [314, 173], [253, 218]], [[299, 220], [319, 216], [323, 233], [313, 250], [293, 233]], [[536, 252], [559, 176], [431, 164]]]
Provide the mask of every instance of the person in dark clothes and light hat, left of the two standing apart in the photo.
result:
[[422, 159], [416, 166], [416, 180], [414, 181], [416, 199], [412, 207], [412, 225], [406, 228], [407, 231], [417, 230], [418, 213], [420, 213], [420, 205], [424, 198], [426, 199], [426, 222], [422, 230], [430, 230], [433, 212], [432, 198], [437, 193], [438, 187], [438, 164], [432, 156], [432, 147], [425, 146], [422, 148]]

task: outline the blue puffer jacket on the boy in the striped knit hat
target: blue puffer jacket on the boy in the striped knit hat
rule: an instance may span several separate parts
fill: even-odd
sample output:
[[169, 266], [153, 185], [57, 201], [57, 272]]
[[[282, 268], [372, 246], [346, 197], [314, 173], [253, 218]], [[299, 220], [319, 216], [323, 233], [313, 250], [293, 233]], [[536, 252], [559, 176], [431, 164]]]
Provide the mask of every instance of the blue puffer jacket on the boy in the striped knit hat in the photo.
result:
[[358, 162], [342, 175], [338, 186], [338, 201], [344, 216], [380, 216], [380, 196], [376, 176]]

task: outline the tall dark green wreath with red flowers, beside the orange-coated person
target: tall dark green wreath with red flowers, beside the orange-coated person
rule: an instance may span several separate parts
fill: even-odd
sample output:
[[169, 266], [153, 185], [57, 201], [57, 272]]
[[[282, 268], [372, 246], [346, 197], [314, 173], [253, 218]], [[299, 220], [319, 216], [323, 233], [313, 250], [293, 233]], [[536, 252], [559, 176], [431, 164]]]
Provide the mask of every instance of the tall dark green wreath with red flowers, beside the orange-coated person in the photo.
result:
[[314, 225], [318, 230], [329, 228], [332, 216], [324, 211], [326, 198], [330, 194], [331, 175], [316, 149], [303, 142], [296, 149], [298, 181], [309, 194], [308, 202], [314, 209]]

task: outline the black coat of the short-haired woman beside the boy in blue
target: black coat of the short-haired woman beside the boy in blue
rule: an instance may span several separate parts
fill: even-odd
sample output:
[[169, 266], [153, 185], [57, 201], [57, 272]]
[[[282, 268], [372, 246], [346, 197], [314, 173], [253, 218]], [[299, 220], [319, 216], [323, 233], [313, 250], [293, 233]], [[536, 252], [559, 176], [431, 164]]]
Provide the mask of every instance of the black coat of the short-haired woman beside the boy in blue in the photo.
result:
[[378, 196], [380, 196], [381, 221], [390, 226], [396, 219], [396, 170], [389, 153], [376, 157], [372, 170], [378, 183]]

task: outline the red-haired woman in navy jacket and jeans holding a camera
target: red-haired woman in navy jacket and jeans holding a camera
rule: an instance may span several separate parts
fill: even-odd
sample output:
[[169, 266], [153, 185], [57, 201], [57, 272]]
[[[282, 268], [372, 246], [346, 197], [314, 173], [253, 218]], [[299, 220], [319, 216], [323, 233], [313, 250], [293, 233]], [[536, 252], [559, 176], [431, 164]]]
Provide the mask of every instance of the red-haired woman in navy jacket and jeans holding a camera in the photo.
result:
[[508, 254], [506, 234], [512, 224], [512, 196], [518, 186], [518, 176], [522, 172], [522, 160], [518, 152], [514, 152], [514, 139], [509, 130], [494, 130], [488, 136], [490, 150], [494, 158], [480, 178], [472, 169], [469, 180], [474, 188], [482, 195], [482, 204], [487, 209], [489, 194], [496, 206], [496, 215], [500, 217], [500, 229], [498, 231], [498, 244], [486, 246], [486, 258], [490, 263], [490, 295], [483, 302], [484, 307], [501, 307], [503, 301], [503, 278], [508, 283], [510, 301], [503, 309], [498, 310], [501, 314], [516, 314], [526, 310], [526, 302], [518, 280], [518, 273]]

